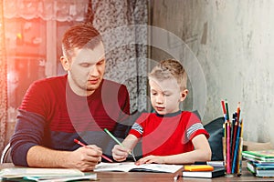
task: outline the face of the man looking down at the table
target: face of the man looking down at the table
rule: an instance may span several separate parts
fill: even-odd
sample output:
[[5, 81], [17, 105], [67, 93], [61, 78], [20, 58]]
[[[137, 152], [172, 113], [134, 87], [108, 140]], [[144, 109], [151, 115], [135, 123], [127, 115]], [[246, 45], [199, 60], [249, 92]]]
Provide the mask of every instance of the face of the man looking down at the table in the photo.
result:
[[94, 49], [74, 49], [68, 64], [68, 84], [71, 89], [79, 96], [90, 96], [100, 86], [105, 72], [102, 43]]

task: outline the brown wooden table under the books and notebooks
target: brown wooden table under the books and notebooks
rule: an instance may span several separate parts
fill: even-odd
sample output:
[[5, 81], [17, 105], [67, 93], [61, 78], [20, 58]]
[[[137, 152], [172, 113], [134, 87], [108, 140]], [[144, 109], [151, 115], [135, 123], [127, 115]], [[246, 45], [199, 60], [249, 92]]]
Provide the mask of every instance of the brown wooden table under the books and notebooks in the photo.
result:
[[[4, 164], [0, 166], [1, 168], [5, 167], [14, 167], [12, 164]], [[151, 182], [151, 181], [174, 181], [174, 174], [168, 173], [143, 173], [143, 172], [97, 172], [97, 177], [100, 179], [100, 182], [104, 181], [113, 181], [113, 182]], [[262, 178], [254, 177], [247, 169], [247, 163], [243, 162], [242, 176], [241, 177], [215, 177], [215, 178], [194, 178], [194, 177], [180, 177], [178, 180], [185, 182], [195, 182], [195, 181], [274, 181], [274, 178]]]

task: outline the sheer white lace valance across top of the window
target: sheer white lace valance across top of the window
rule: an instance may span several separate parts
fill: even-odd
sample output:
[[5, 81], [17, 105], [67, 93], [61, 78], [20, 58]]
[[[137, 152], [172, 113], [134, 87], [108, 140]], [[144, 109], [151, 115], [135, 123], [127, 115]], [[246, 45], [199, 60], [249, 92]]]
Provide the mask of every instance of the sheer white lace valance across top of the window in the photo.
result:
[[83, 21], [89, 0], [4, 0], [5, 18]]

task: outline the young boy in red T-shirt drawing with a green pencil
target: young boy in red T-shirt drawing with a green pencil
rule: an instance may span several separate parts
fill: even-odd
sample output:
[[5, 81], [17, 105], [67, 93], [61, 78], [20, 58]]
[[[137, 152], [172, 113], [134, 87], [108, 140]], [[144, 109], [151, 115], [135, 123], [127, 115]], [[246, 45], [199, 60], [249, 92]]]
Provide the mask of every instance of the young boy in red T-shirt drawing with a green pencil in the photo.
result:
[[168, 59], [155, 66], [149, 75], [151, 102], [156, 113], [142, 114], [112, 156], [123, 161], [142, 137], [142, 155], [136, 164], [189, 164], [211, 159], [211, 149], [201, 121], [195, 114], [180, 111], [187, 76], [184, 67]]

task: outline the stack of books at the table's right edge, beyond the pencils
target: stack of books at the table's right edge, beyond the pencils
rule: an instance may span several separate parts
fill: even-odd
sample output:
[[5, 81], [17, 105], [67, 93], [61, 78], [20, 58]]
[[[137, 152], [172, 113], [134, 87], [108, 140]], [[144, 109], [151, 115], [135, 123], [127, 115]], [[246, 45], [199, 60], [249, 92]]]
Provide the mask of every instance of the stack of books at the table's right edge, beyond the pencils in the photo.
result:
[[257, 177], [274, 177], [274, 150], [243, 151], [248, 171]]

